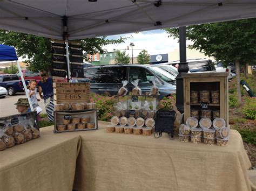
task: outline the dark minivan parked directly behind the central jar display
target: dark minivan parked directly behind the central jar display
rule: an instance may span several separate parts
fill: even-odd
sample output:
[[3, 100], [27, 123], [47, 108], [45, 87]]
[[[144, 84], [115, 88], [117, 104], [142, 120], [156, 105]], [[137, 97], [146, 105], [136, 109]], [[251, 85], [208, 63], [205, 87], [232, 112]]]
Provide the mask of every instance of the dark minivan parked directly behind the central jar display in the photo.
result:
[[165, 70], [152, 65], [101, 65], [84, 68], [84, 80], [90, 82], [91, 91], [97, 94], [109, 92], [117, 95], [122, 87], [122, 81], [127, 80], [129, 91], [134, 87], [132, 81], [139, 79], [139, 87], [143, 94], [149, 92], [152, 87], [151, 77], [156, 76], [161, 85], [159, 86], [160, 98], [176, 93], [176, 85], [173, 77]]

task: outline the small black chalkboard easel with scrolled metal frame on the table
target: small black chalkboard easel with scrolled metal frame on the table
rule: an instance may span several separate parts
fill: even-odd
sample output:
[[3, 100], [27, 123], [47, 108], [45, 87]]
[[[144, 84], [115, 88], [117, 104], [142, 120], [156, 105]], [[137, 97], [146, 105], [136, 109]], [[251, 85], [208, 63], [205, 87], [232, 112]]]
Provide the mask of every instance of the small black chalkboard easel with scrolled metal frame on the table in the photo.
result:
[[156, 113], [156, 125], [154, 137], [159, 138], [162, 136], [162, 133], [168, 133], [170, 139], [174, 139], [174, 121], [176, 119], [176, 112], [172, 109], [170, 102], [164, 102], [160, 106], [160, 109]]

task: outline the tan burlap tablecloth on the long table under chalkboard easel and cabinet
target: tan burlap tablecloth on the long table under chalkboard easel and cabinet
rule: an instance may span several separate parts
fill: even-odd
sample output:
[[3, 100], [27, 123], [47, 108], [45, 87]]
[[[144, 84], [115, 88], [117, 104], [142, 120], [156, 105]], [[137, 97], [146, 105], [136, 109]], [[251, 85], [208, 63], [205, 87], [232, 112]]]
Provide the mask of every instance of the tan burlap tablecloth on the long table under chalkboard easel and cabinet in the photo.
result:
[[77, 190], [251, 190], [250, 160], [235, 130], [226, 147], [105, 129], [80, 136]]

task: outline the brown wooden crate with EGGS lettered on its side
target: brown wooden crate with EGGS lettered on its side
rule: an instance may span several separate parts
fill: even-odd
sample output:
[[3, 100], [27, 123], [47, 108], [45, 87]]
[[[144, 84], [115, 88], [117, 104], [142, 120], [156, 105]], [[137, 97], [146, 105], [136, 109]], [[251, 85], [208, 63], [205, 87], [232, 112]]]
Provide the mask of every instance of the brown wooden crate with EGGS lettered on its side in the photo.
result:
[[90, 83], [55, 82], [53, 93], [55, 104], [90, 102]]

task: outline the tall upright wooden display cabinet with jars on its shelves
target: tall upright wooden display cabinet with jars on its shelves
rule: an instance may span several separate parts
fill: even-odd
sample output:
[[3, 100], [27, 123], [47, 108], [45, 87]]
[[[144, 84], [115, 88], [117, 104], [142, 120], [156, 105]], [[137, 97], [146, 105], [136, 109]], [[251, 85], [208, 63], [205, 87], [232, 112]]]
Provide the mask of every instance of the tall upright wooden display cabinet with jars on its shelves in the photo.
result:
[[[191, 90], [220, 91], [219, 104], [208, 103], [208, 109], [219, 110], [220, 117], [228, 126], [228, 73], [183, 74], [184, 79], [184, 119], [191, 117], [191, 109], [201, 108], [201, 103], [191, 103]], [[203, 88], [203, 89], [202, 89]], [[200, 119], [200, 118], [199, 118]], [[211, 118], [213, 120], [213, 118]]]

